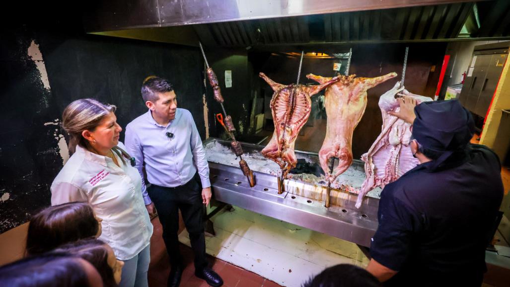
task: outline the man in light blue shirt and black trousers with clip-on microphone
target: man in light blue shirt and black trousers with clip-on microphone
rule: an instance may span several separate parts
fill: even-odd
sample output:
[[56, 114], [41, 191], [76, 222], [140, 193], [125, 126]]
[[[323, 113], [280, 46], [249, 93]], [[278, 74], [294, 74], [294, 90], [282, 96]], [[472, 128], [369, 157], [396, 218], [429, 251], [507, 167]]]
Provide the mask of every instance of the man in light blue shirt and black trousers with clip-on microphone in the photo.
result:
[[151, 185], [142, 184], [149, 213], [156, 206], [163, 226], [163, 240], [172, 266], [168, 286], [179, 286], [183, 271], [179, 252], [179, 209], [188, 230], [195, 255], [195, 275], [211, 286], [222, 279], [208, 268], [202, 224], [202, 207], [211, 199], [209, 165], [193, 117], [177, 108], [172, 85], [166, 79], [148, 78], [142, 85], [142, 98], [148, 111], [126, 127], [125, 146], [143, 167]]

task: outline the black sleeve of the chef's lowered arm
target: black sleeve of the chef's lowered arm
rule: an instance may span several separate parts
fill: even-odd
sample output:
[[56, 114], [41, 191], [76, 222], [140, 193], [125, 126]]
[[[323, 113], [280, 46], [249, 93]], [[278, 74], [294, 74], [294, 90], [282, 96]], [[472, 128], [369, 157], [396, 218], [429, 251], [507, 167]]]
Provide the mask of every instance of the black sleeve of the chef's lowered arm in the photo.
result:
[[[396, 182], [395, 182], [396, 183]], [[400, 271], [410, 254], [413, 237], [420, 232], [420, 216], [401, 198], [405, 193], [387, 185], [379, 201], [379, 226], [372, 238], [370, 256], [381, 265]], [[405, 196], [404, 196], [405, 198]]]

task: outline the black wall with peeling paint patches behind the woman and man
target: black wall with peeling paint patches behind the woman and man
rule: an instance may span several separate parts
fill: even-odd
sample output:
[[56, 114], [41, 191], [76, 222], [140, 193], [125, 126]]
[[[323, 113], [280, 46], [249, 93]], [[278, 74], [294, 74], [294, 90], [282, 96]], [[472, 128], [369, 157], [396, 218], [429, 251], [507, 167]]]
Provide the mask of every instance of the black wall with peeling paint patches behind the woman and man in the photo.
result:
[[[140, 95], [143, 79], [158, 75], [174, 84], [179, 107], [192, 112], [205, 137], [198, 49], [36, 25], [0, 31], [0, 38], [0, 197], [10, 194], [0, 201], [0, 233], [49, 206], [49, 186], [63, 165], [58, 136], [65, 132], [45, 123], [56, 123], [73, 100], [116, 105], [118, 123], [125, 127], [147, 111]], [[33, 40], [40, 47], [49, 90], [27, 53]]]

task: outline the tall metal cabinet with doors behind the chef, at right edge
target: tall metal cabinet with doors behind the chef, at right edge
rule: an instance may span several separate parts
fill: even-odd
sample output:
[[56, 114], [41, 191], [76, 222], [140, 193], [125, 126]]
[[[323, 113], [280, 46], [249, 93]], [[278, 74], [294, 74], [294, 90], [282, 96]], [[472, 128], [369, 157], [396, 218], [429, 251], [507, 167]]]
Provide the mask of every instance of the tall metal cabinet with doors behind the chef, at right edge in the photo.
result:
[[475, 46], [472, 73], [466, 78], [460, 95], [461, 104], [474, 114], [485, 117], [496, 91], [510, 42]]

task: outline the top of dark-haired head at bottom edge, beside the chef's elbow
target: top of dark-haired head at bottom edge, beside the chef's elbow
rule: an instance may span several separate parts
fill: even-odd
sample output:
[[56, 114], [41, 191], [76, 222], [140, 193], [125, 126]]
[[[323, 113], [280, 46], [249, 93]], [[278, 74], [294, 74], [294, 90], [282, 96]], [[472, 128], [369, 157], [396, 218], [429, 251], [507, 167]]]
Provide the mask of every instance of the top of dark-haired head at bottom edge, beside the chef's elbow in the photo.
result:
[[302, 287], [382, 287], [372, 274], [350, 264], [339, 264], [326, 268]]

